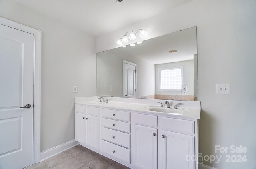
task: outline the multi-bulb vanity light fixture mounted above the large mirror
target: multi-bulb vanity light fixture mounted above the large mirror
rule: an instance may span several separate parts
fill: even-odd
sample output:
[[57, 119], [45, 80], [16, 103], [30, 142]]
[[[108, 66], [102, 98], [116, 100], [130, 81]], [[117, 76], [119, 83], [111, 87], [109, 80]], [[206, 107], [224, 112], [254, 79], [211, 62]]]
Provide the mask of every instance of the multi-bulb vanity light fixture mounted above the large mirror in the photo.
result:
[[[120, 38], [118, 41], [116, 41], [116, 43], [119, 46], [122, 46], [122, 42], [126, 44], [126, 43], [128, 43], [128, 40], [135, 40], [136, 39], [136, 34], [138, 32], [140, 32], [140, 37], [141, 38], [144, 38], [144, 37], [147, 36], [147, 32], [145, 30], [143, 30], [143, 29], [138, 29], [136, 31], [136, 33], [134, 33], [133, 30], [132, 30], [131, 33], [126, 32], [126, 34], [122, 38]], [[141, 44], [141, 43], [142, 43], [142, 41], [137, 42], [137, 44]], [[134, 44], [134, 46], [135, 46], [135, 44]]]

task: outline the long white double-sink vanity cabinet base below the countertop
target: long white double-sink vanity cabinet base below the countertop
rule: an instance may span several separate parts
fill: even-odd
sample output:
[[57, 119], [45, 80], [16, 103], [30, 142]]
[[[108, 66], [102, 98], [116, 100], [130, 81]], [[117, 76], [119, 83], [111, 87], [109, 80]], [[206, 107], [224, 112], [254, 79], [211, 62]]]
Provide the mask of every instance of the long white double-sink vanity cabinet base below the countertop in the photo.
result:
[[[198, 119], [76, 105], [76, 140], [132, 169], [198, 169]], [[84, 119], [85, 117], [85, 119]]]

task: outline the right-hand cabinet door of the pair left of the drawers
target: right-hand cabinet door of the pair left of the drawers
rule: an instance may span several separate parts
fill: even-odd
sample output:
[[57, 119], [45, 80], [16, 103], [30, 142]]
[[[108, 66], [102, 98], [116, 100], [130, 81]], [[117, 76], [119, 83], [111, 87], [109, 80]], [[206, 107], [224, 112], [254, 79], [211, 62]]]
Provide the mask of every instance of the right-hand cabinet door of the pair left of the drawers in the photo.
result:
[[100, 117], [86, 115], [86, 144], [100, 149]]

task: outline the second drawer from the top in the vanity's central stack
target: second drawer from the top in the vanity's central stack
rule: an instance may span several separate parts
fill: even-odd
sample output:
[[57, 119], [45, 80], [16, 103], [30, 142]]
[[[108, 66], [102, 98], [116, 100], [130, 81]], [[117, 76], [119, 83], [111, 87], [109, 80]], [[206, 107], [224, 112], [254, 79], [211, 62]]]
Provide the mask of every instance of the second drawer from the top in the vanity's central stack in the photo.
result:
[[110, 129], [116, 129], [116, 130], [124, 131], [126, 133], [131, 132], [130, 123], [101, 118], [101, 124], [102, 124], [102, 127], [108, 127]]

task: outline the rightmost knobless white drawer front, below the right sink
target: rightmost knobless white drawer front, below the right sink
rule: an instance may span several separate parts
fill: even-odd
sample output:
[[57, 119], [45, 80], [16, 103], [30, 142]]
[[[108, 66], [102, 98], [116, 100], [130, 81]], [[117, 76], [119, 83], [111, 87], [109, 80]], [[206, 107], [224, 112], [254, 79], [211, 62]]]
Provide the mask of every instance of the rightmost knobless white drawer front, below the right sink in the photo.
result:
[[195, 122], [190, 120], [162, 117], [162, 129], [178, 133], [194, 134]]

